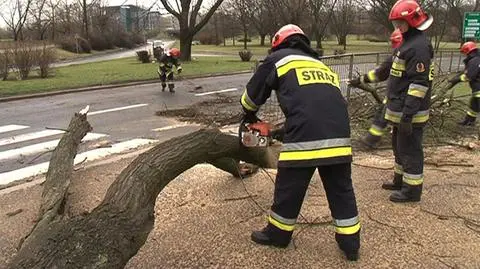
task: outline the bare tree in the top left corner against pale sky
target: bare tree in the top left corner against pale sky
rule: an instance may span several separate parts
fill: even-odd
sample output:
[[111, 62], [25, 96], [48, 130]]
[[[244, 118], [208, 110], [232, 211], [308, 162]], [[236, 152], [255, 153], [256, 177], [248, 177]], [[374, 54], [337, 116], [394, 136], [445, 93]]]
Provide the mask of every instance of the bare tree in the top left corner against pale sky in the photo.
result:
[[8, 1], [8, 7], [0, 11], [0, 16], [12, 32], [13, 40], [22, 40], [22, 30], [33, 0]]

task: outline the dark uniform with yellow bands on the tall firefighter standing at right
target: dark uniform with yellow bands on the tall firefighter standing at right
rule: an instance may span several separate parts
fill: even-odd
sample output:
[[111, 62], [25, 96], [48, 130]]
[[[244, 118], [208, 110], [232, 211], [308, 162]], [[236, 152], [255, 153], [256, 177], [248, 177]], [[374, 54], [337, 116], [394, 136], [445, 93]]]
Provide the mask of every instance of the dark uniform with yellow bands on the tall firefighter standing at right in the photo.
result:
[[[423, 127], [429, 118], [433, 49], [425, 34], [410, 28], [396, 52], [388, 80], [385, 119], [393, 124], [394, 202], [419, 201], [423, 185]], [[401, 179], [401, 180], [400, 180]]]

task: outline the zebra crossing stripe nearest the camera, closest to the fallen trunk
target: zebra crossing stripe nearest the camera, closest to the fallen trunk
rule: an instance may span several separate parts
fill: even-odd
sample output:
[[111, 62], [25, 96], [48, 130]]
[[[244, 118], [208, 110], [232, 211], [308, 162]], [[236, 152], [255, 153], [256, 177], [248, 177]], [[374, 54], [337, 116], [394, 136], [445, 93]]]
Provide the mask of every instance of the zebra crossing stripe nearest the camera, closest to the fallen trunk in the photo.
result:
[[[74, 164], [84, 162], [85, 160], [93, 161], [93, 160], [107, 157], [112, 154], [122, 153], [124, 151], [134, 149], [140, 146], [148, 145], [156, 141], [157, 140], [151, 140], [151, 139], [132, 139], [125, 142], [113, 144], [111, 148], [100, 148], [100, 149], [86, 151], [81, 154], [78, 154], [75, 157]], [[17, 170], [1, 173], [0, 185], [6, 185], [9, 183], [15, 182], [17, 180], [44, 174], [48, 171], [48, 165], [49, 165], [49, 162], [44, 162], [44, 163], [28, 166], [25, 168], [20, 168]]]

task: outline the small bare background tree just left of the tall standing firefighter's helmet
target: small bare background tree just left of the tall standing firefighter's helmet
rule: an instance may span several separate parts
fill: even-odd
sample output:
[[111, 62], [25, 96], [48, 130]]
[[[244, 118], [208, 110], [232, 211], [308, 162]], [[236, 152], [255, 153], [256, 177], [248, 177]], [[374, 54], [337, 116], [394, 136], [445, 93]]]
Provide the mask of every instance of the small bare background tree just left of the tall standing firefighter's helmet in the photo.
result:
[[338, 45], [347, 49], [347, 35], [353, 27], [356, 6], [349, 0], [340, 0], [332, 15], [332, 28], [337, 36]]

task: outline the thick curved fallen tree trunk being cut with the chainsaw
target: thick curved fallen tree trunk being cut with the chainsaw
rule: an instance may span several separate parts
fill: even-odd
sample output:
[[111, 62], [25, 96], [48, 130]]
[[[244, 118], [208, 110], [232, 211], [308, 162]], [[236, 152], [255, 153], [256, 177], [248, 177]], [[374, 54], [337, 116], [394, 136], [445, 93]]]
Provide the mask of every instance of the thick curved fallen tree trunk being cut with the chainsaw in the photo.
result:
[[225, 158], [275, 167], [277, 154], [242, 148], [237, 137], [217, 129], [161, 143], [125, 168], [91, 213], [37, 226], [9, 268], [123, 268], [153, 228], [158, 194], [178, 175]]

